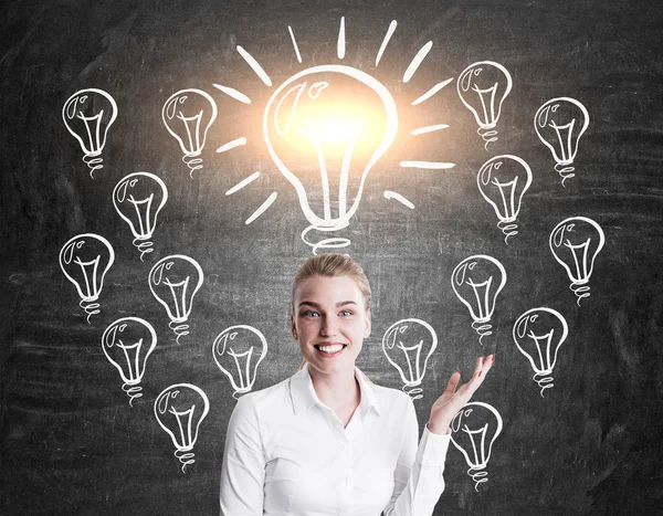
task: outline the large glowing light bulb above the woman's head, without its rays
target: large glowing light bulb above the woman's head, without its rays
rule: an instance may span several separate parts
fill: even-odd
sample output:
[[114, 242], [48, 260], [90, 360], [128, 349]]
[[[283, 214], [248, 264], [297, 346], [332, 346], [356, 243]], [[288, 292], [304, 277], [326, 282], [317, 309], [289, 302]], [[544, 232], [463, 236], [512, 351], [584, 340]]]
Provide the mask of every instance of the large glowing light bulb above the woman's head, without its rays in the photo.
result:
[[344, 248], [349, 240], [312, 242], [312, 230], [346, 228], [357, 211], [368, 172], [396, 138], [398, 115], [388, 89], [343, 65], [304, 70], [277, 87], [263, 115], [263, 136], [278, 170], [295, 188], [313, 248]]

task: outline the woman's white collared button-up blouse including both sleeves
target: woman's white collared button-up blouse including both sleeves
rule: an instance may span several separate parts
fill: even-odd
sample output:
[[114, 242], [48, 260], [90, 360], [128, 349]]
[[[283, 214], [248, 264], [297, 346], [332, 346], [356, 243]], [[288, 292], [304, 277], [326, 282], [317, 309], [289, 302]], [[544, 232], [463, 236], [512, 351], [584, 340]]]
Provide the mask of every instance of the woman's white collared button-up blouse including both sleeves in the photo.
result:
[[308, 365], [236, 403], [221, 468], [222, 516], [430, 516], [450, 435], [419, 427], [408, 394], [367, 381], [347, 428]]

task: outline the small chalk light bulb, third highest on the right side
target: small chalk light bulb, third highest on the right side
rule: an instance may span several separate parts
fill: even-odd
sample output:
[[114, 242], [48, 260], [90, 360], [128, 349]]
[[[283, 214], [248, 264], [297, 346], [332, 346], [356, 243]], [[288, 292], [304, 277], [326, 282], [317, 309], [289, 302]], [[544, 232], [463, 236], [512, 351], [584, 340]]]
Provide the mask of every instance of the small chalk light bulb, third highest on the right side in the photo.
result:
[[518, 234], [516, 218], [520, 211], [523, 194], [532, 185], [532, 170], [517, 156], [504, 155], [488, 159], [476, 175], [476, 183], [483, 198], [497, 214], [497, 228], [504, 233], [504, 242]]

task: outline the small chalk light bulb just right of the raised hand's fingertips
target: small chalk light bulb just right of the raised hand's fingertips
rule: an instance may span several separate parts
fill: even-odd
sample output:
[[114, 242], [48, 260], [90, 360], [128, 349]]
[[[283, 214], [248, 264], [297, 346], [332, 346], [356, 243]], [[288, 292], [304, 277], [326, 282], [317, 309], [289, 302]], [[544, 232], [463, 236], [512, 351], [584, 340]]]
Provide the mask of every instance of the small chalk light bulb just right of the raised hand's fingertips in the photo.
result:
[[569, 334], [564, 316], [544, 306], [525, 312], [514, 324], [514, 341], [534, 369], [533, 380], [544, 391], [552, 387], [557, 351]]

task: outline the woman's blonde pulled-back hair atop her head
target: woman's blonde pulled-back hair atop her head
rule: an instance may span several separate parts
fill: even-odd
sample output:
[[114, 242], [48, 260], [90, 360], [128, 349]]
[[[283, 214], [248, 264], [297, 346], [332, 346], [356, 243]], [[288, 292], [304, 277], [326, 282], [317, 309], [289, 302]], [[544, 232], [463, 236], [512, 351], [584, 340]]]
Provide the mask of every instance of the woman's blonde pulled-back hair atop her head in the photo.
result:
[[327, 253], [309, 256], [297, 267], [297, 273], [293, 281], [293, 312], [295, 309], [294, 302], [297, 286], [301, 282], [312, 276], [351, 277], [359, 287], [359, 291], [361, 291], [361, 295], [364, 296], [364, 307], [367, 312], [370, 310], [370, 285], [361, 265], [355, 262], [349, 254]]

